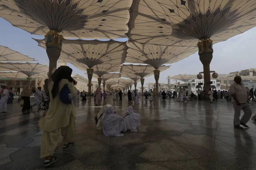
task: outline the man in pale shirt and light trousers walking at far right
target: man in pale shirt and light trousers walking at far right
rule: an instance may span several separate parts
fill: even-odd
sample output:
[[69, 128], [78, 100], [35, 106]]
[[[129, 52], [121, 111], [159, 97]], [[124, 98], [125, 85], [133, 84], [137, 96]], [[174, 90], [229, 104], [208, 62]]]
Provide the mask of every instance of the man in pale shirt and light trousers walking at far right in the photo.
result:
[[[230, 86], [230, 94], [232, 96], [232, 104], [235, 110], [234, 114], [234, 127], [243, 129], [240, 125], [244, 127], [248, 127], [245, 125], [252, 115], [252, 111], [250, 109], [247, 89], [241, 83], [242, 79], [240, 76], [236, 76], [234, 79], [233, 85]], [[240, 120], [241, 110], [244, 111], [244, 115]]]

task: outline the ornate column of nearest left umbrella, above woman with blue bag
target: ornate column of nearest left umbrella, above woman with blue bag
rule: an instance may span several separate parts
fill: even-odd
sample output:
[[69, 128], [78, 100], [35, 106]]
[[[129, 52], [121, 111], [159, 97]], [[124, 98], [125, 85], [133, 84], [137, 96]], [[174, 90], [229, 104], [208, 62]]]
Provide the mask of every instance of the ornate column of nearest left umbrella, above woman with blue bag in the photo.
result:
[[49, 58], [49, 82], [52, 81], [52, 70], [57, 67], [58, 58], [61, 55], [61, 45], [63, 36], [59, 35], [57, 31], [49, 31], [46, 38], [46, 53]]

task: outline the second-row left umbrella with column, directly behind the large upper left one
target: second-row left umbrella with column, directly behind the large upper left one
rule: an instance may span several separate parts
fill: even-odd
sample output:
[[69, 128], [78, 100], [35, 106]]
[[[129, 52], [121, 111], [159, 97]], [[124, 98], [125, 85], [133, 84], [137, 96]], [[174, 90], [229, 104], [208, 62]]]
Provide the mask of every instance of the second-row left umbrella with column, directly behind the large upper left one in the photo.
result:
[[[46, 40], [36, 41], [39, 46], [45, 48]], [[87, 71], [88, 93], [90, 95], [93, 67], [102, 64], [121, 65], [126, 57], [127, 47], [125, 43], [114, 40], [64, 40], [60, 59], [72, 63], [76, 68]], [[103, 66], [100, 68], [105, 69]], [[105, 71], [105, 73], [108, 72]]]

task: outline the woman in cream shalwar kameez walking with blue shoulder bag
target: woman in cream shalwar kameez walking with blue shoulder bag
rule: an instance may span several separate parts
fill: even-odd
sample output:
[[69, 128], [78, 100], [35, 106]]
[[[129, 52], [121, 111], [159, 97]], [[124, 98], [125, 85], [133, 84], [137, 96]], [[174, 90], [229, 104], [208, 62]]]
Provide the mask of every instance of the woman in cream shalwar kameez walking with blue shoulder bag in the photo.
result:
[[49, 84], [49, 91], [51, 92], [49, 109], [46, 116], [39, 121], [40, 128], [44, 130], [41, 141], [41, 158], [45, 158], [44, 166], [49, 166], [57, 160], [52, 155], [60, 135], [63, 136], [64, 150], [74, 145], [75, 106], [73, 102], [64, 104], [59, 98], [59, 93], [64, 85], [68, 86], [72, 97], [76, 97], [77, 92], [71, 74], [71, 68], [61, 66], [52, 74], [52, 82]]

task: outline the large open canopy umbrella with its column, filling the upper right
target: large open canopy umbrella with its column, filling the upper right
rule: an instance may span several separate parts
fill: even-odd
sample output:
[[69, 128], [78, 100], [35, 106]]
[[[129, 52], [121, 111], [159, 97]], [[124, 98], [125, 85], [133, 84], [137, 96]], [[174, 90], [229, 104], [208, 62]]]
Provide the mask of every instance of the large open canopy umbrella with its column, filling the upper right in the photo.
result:
[[204, 82], [210, 82], [212, 44], [255, 27], [255, 8], [255, 0], [136, 0], [127, 36], [145, 45], [198, 46]]

